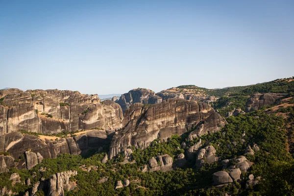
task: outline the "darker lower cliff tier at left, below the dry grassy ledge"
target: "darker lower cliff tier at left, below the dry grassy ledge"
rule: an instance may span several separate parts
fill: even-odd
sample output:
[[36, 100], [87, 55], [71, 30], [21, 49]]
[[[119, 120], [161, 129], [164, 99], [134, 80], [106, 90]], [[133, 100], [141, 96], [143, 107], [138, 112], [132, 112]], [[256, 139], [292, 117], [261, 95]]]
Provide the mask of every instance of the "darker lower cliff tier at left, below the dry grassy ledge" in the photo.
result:
[[[31, 169], [43, 158], [56, 158], [58, 154], [80, 154], [91, 147], [103, 147], [110, 143], [114, 131], [88, 130], [74, 137], [50, 140], [50, 136], [34, 136], [18, 131], [0, 136], [0, 151], [9, 152], [10, 156], [0, 156], [0, 172], [8, 168]], [[20, 156], [23, 156], [19, 162]]]

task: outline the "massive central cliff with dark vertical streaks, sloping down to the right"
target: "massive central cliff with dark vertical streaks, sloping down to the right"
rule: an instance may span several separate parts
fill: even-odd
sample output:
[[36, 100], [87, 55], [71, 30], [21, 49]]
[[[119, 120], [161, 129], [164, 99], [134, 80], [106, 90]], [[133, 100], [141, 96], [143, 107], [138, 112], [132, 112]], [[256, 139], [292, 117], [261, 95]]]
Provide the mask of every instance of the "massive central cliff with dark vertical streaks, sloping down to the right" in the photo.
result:
[[166, 140], [174, 134], [181, 135], [199, 123], [206, 124], [200, 133], [205, 134], [218, 130], [225, 120], [203, 102], [168, 99], [147, 107], [133, 104], [124, 112], [124, 127], [114, 135], [109, 157], [128, 146], [145, 148], [157, 138]]

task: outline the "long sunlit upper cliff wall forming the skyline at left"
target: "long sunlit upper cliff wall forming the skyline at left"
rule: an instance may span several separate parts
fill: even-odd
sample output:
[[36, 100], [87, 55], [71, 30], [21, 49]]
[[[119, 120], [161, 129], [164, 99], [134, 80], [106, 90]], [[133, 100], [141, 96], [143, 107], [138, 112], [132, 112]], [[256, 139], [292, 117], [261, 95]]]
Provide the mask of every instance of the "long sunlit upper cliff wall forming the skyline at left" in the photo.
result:
[[0, 135], [24, 129], [44, 134], [122, 127], [119, 104], [77, 91], [0, 90]]

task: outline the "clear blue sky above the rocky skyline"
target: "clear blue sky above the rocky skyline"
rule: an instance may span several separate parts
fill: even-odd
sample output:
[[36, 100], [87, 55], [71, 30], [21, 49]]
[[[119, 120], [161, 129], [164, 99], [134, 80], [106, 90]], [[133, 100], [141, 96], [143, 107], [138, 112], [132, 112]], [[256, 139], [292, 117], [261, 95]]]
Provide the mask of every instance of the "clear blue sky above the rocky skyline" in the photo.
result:
[[294, 76], [294, 0], [0, 0], [0, 88], [155, 92]]

